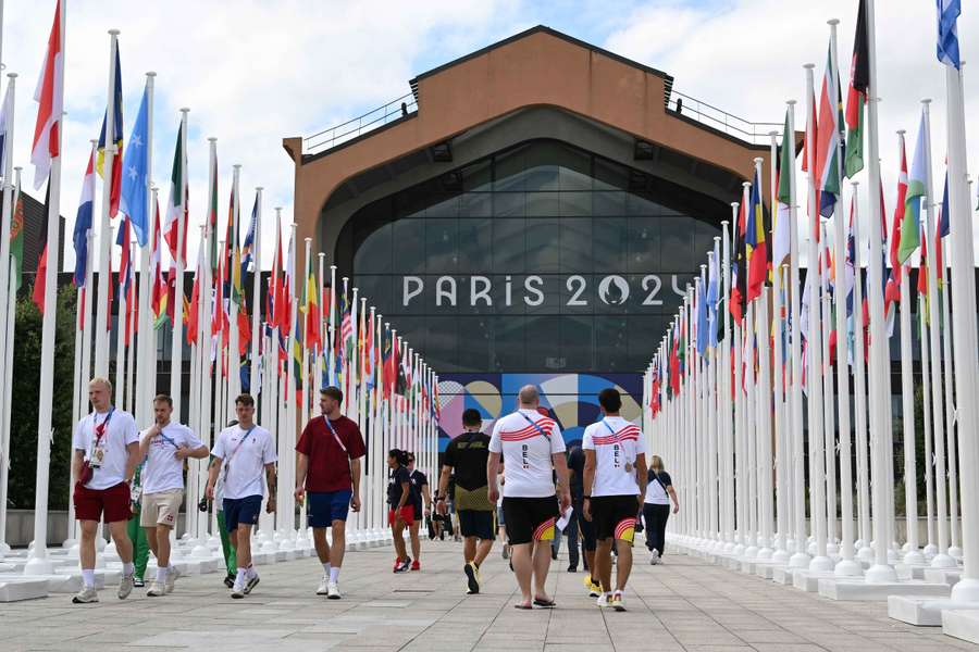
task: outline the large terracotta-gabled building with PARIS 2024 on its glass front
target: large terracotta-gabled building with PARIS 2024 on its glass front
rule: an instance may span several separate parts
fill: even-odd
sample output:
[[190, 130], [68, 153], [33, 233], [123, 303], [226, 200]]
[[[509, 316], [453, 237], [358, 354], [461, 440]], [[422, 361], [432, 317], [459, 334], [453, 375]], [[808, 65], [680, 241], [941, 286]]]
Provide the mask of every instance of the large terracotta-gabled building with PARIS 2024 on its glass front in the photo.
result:
[[781, 126], [673, 83], [537, 26], [284, 139], [299, 241], [439, 373], [447, 436], [464, 406], [495, 418], [529, 381], [569, 441], [609, 383], [639, 417], [679, 293]]

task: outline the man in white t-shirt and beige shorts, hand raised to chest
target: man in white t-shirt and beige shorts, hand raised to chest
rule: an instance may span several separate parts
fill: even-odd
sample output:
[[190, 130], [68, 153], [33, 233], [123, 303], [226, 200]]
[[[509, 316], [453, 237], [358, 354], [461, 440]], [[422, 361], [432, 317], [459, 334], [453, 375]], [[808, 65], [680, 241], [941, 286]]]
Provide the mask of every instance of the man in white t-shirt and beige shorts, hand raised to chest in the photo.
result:
[[156, 598], [173, 591], [176, 567], [170, 565], [170, 531], [176, 525], [184, 502], [184, 460], [208, 456], [208, 447], [187, 426], [171, 421], [173, 399], [153, 399], [154, 423], [142, 432], [139, 459], [142, 501], [139, 525], [146, 530], [150, 550], [157, 557], [157, 579], [146, 592]]

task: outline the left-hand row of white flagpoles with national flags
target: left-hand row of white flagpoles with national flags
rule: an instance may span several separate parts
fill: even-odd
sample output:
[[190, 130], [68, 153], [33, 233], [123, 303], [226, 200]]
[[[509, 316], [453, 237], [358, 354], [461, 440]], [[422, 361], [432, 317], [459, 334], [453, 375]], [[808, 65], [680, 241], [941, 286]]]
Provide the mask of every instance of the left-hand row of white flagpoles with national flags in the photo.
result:
[[[35, 188], [47, 181], [47, 229], [45, 252], [38, 266], [34, 300], [41, 310], [41, 381], [37, 442], [37, 480], [35, 501], [35, 540], [25, 568], [28, 574], [50, 574], [48, 559], [48, 479], [50, 447], [69, 440], [69, 432], [53, 432], [54, 325], [58, 291], [61, 141], [63, 138], [63, 75], [65, 0], [57, 2], [54, 24], [48, 42], [46, 63], [36, 93], [39, 103], [32, 162], [35, 164]], [[256, 199], [244, 243], [240, 231], [240, 166], [233, 167], [230, 211], [224, 237], [219, 235], [216, 140], [209, 139], [209, 197], [206, 217], [200, 228], [200, 243], [195, 264], [194, 285], [188, 299], [184, 291], [187, 233], [189, 222], [187, 174], [187, 134], [189, 110], [181, 110], [181, 122], [171, 171], [171, 190], [163, 212], [158, 189], [153, 185], [153, 89], [154, 73], [147, 73], [139, 114], [123, 155], [122, 83], [119, 32], [110, 30], [109, 101], [102, 134], [87, 161], [82, 200], [76, 215], [73, 241], [76, 254], [74, 285], [77, 313], [75, 319], [75, 361], [73, 366], [73, 423], [88, 412], [87, 383], [92, 376], [114, 381], [117, 408], [133, 410], [140, 427], [152, 421], [152, 397], [158, 391], [170, 393], [175, 414], [187, 415], [188, 425], [207, 442], [234, 417], [234, 400], [247, 389], [258, 401], [259, 423], [277, 436], [280, 473], [277, 513], [264, 515], [259, 538], [268, 548], [288, 549], [298, 535], [293, 498], [295, 453], [299, 428], [319, 414], [319, 389], [337, 385], [345, 393], [344, 412], [357, 421], [364, 432], [368, 456], [361, 498], [364, 510], [354, 521], [355, 538], [381, 536], [385, 529], [384, 485], [386, 450], [404, 448], [417, 453], [419, 468], [433, 473], [437, 463], [438, 377], [407, 340], [384, 322], [374, 306], [349, 279], [337, 286], [336, 266], [324, 277], [325, 254], [305, 242], [305, 273], [297, 273], [296, 226], [289, 228], [283, 256], [281, 209], [275, 210], [275, 248], [262, 247], [262, 189]], [[16, 75], [9, 75], [2, 124], [3, 208], [0, 224], [0, 398], [3, 400], [2, 467], [0, 489], [5, 493], [10, 450], [10, 397], [12, 390], [12, 351], [14, 346], [13, 308], [20, 286], [18, 254], [12, 251], [17, 235], [23, 233], [23, 212], [16, 196], [20, 175], [14, 184], [12, 173], [13, 102]], [[123, 173], [125, 167], [125, 173]], [[20, 171], [20, 168], [18, 168]], [[96, 177], [103, 178], [98, 218]], [[113, 229], [113, 218], [117, 227]], [[18, 218], [20, 222], [16, 222]], [[15, 227], [11, 228], [12, 220]], [[120, 246], [116, 280], [112, 278], [112, 238]], [[171, 254], [169, 271], [163, 269], [162, 249]], [[100, 273], [95, 280], [92, 254], [98, 255]], [[268, 265], [269, 258], [274, 261]], [[137, 264], [138, 259], [138, 264]], [[262, 289], [262, 262], [272, 273]], [[136, 273], [137, 266], [139, 274]], [[251, 297], [246, 291], [246, 276], [251, 274]], [[92, 296], [92, 284], [98, 288]], [[16, 285], [16, 287], [15, 287]], [[111, 319], [111, 302], [117, 299], [117, 319]], [[94, 301], [92, 299], [96, 299]], [[359, 301], [358, 301], [359, 299]], [[94, 305], [95, 304], [95, 305]], [[248, 316], [250, 310], [250, 317]], [[158, 329], [171, 324], [170, 384], [158, 383], [159, 353], [165, 342]], [[114, 340], [112, 338], [115, 338]], [[115, 364], [111, 365], [110, 347], [115, 343]], [[184, 387], [185, 347], [189, 349], [189, 386]], [[245, 385], [247, 384], [247, 388]], [[189, 397], [182, 405], [182, 397]], [[301, 419], [301, 421], [300, 421]], [[188, 514], [185, 531], [193, 549], [206, 554], [213, 548], [216, 523], [197, 511], [203, 492], [207, 462], [190, 463], [187, 479]], [[65, 487], [71, 490], [71, 484]], [[5, 501], [2, 501], [5, 503]], [[71, 503], [71, 500], [69, 501]], [[300, 506], [300, 518], [305, 505]], [[5, 504], [0, 506], [0, 543], [5, 526]], [[196, 516], [195, 516], [196, 515]], [[73, 514], [69, 515], [70, 532], [74, 532]], [[300, 523], [303, 523], [300, 521]], [[364, 539], [365, 540], [365, 539]], [[70, 534], [69, 541], [73, 537]], [[112, 544], [110, 544], [111, 547]], [[0, 549], [0, 555], [5, 549]]]

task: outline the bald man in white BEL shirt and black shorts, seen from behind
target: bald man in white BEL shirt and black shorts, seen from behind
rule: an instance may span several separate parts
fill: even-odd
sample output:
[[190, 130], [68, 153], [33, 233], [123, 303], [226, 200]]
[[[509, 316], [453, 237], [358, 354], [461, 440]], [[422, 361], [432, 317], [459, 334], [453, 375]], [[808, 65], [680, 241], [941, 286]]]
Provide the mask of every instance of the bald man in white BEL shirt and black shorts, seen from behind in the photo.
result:
[[557, 422], [537, 413], [538, 404], [536, 387], [521, 388], [518, 410], [497, 421], [493, 427], [486, 463], [491, 503], [499, 496], [496, 473], [500, 455], [507, 464], [503, 506], [513, 572], [522, 594], [522, 600], [515, 606], [523, 610], [534, 605], [554, 606], [554, 600], [544, 590], [544, 582], [550, 568], [550, 540], [558, 515], [557, 493], [560, 493], [561, 512], [571, 504], [565, 440]]

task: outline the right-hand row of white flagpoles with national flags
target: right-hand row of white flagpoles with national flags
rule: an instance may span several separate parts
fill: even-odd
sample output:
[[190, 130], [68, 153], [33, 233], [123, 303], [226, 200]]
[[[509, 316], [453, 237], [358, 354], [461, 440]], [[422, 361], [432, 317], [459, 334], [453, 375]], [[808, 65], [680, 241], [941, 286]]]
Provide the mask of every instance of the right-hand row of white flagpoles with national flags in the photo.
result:
[[[954, 569], [962, 560], [962, 580], [952, 597], [976, 601], [979, 480], [959, 473], [979, 463], [971, 437], [979, 418], [979, 346], [959, 7], [955, 0], [938, 2], [938, 55], [947, 95], [944, 197], [933, 193], [930, 101], [925, 100], [910, 175], [904, 131], [897, 135], [902, 168], [890, 238], [880, 181], [873, 11], [872, 0], [859, 2], [845, 117], [837, 72], [838, 21], [829, 22], [818, 98], [814, 66], [805, 66], [805, 226], [800, 229], [796, 218], [795, 103], [790, 101], [781, 146], [773, 134], [770, 149], [774, 222], [767, 224], [764, 161], [756, 159], [753, 181], [732, 204], [733, 231], [724, 222], [722, 237], [708, 252], [701, 277], [687, 287], [646, 372], [645, 419], [656, 448], [679, 465], [678, 487], [691, 497], [691, 507], [672, 522], [674, 540], [789, 568], [863, 576], [868, 584], [896, 582], [897, 562]], [[863, 216], [853, 177], [865, 160], [869, 200]], [[860, 228], [869, 236], [869, 249], [857, 236]], [[953, 236], [947, 239], [951, 288], [942, 261], [946, 236]], [[808, 264], [801, 285], [803, 243]], [[909, 276], [918, 250], [915, 300]], [[896, 453], [903, 457], [904, 532], [896, 531], [891, 410], [890, 338], [897, 312], [895, 389], [903, 448]], [[921, 353], [922, 427], [915, 423], [914, 329]], [[920, 439], [925, 460], [916, 453]], [[919, 464], [926, 485], [924, 547]], [[899, 538], [906, 541], [903, 548], [895, 543]]]

